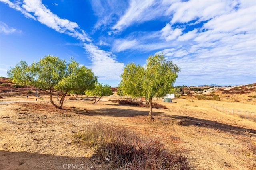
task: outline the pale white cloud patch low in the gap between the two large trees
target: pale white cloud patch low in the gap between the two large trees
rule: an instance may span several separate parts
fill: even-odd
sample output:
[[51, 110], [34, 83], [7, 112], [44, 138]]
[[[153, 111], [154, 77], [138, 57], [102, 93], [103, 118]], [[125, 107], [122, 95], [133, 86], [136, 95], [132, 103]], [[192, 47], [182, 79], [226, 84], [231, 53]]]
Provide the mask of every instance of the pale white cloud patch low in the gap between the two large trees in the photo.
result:
[[116, 61], [113, 53], [99, 49], [96, 45], [84, 43], [92, 61], [90, 68], [101, 80], [120, 80], [124, 63]]

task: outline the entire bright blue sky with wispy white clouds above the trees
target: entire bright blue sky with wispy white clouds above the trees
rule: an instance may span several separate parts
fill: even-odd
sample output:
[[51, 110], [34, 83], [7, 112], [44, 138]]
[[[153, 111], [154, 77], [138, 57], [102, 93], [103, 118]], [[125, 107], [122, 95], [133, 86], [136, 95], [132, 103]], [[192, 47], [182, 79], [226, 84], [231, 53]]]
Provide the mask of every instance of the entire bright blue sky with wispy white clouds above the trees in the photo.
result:
[[20, 60], [71, 57], [118, 86], [163, 53], [174, 85], [256, 82], [255, 0], [0, 0], [0, 76]]

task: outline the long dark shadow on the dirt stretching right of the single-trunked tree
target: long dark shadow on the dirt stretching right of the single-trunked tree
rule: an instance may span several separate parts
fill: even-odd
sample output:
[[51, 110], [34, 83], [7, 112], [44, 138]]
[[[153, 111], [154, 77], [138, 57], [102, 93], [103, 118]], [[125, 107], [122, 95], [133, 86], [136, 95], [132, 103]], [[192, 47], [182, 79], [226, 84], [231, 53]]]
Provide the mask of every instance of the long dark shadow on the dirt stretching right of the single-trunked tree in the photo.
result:
[[[189, 116], [170, 116], [173, 119], [176, 119], [178, 121], [179, 125], [182, 126], [198, 126], [198, 127], [207, 127], [212, 129], [218, 129], [220, 131], [233, 133], [237, 135], [246, 135], [251, 137], [256, 137], [256, 130], [255, 129], [247, 129], [239, 126], [232, 126], [224, 123], [220, 123], [217, 121], [210, 121], [205, 119], [199, 119], [195, 117], [189, 117]], [[200, 123], [200, 125], [197, 125]]]

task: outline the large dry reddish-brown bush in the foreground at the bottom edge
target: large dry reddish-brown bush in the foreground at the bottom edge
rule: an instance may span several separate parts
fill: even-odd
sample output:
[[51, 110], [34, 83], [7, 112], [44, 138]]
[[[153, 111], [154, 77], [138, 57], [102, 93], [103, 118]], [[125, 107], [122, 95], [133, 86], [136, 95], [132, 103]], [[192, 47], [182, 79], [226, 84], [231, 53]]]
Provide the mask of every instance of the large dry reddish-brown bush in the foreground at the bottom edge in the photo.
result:
[[188, 170], [187, 158], [170, 154], [157, 140], [144, 141], [113, 125], [97, 124], [74, 134], [73, 143], [91, 148], [100, 160], [109, 158], [107, 169]]

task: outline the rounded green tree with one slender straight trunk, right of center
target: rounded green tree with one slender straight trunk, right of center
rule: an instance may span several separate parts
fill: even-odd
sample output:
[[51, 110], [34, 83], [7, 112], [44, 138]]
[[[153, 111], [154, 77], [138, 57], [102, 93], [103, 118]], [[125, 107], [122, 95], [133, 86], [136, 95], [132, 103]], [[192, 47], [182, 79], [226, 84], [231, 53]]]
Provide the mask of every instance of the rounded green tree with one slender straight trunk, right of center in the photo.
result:
[[173, 91], [180, 68], [164, 55], [154, 55], [147, 59], [146, 68], [129, 63], [121, 75], [120, 87], [124, 94], [132, 97], [145, 96], [149, 100], [149, 118], [152, 119], [152, 98], [162, 97]]

